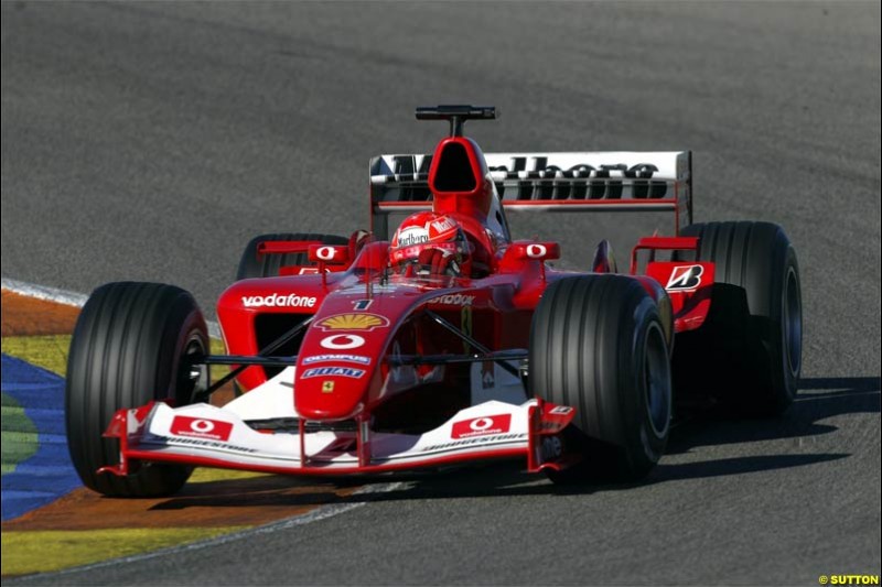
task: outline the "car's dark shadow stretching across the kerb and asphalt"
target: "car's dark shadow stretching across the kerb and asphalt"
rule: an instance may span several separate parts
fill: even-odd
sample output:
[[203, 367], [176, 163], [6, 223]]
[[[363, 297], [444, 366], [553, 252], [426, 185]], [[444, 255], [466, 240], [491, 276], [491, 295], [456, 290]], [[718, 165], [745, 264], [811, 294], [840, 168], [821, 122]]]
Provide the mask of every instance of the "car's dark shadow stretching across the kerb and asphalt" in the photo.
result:
[[[530, 475], [514, 463], [496, 463], [442, 471], [399, 474], [299, 481], [281, 476], [263, 479], [187, 486], [182, 494], [155, 509], [241, 506], [319, 506], [326, 503], [372, 502], [413, 499], [452, 499], [490, 496], [572, 494], [633, 489], [675, 480], [740, 475], [800, 467], [847, 458], [845, 453], [806, 452], [806, 441], [835, 434], [835, 416], [880, 412], [880, 378], [813, 378], [800, 381], [799, 395], [781, 418], [743, 420], [713, 410], [693, 415], [671, 431], [666, 458], [650, 476], [638, 483], [556, 486], [544, 476]], [[784, 444], [782, 444], [784, 441]], [[777, 444], [770, 450], [761, 445], [744, 456], [707, 459], [690, 453], [699, 447], [749, 443]], [[792, 443], [792, 444], [787, 444]], [[725, 452], [725, 450], [724, 450]], [[733, 450], [738, 453], [739, 450]], [[756, 454], [764, 453], [764, 454]], [[400, 482], [383, 491], [356, 490], [367, 483]], [[313, 486], [313, 487], [310, 487]], [[315, 486], [323, 486], [318, 490]]]

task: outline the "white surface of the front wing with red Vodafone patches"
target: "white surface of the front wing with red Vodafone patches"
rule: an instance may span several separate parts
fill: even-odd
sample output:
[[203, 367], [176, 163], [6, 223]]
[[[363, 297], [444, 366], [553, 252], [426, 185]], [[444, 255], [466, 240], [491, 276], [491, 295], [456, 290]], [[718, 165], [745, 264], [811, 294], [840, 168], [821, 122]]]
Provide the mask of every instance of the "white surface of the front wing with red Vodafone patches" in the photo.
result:
[[[250, 392], [254, 393], [254, 392]], [[372, 433], [368, 466], [419, 464], [470, 453], [525, 449], [529, 436], [529, 411], [536, 400], [520, 405], [488, 401], [462, 410], [441, 426], [421, 435]], [[129, 450], [209, 459], [247, 468], [292, 469], [303, 467], [301, 442], [295, 433], [265, 434], [223, 407], [195, 404], [173, 409], [157, 403], [139, 421], [130, 410], [127, 422]], [[276, 416], [278, 417], [278, 414]], [[311, 432], [303, 445], [308, 468], [358, 467], [354, 432]]]

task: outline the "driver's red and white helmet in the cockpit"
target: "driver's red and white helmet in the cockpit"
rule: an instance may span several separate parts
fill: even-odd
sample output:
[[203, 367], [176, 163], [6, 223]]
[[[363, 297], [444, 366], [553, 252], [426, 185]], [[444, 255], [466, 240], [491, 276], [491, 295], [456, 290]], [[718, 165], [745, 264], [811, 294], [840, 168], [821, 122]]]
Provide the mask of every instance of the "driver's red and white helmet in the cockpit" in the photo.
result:
[[408, 276], [469, 275], [470, 244], [450, 216], [420, 211], [408, 216], [392, 236], [389, 265]]

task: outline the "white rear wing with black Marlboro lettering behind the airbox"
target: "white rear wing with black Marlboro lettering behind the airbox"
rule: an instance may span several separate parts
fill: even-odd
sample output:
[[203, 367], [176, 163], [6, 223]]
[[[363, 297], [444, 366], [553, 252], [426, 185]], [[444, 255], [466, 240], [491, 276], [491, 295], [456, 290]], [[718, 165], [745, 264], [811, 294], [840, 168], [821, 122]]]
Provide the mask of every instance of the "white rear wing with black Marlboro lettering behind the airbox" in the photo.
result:
[[[692, 221], [692, 153], [485, 153], [506, 211], [673, 211]], [[432, 155], [370, 160], [374, 232], [388, 238], [388, 216], [431, 209]]]

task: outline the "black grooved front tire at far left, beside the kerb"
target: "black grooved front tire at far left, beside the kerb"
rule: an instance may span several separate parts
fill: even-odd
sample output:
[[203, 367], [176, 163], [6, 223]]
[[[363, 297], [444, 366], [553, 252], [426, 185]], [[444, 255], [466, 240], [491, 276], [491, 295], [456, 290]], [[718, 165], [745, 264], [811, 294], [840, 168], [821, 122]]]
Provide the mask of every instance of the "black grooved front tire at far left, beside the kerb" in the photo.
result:
[[71, 340], [65, 391], [71, 459], [86, 487], [148, 498], [186, 482], [192, 468], [182, 465], [144, 464], [127, 477], [98, 474], [119, 463], [119, 442], [101, 435], [118, 410], [164, 399], [190, 403], [200, 378], [185, 357], [207, 349], [205, 319], [184, 290], [120, 282], [93, 292]]

